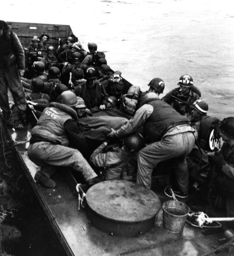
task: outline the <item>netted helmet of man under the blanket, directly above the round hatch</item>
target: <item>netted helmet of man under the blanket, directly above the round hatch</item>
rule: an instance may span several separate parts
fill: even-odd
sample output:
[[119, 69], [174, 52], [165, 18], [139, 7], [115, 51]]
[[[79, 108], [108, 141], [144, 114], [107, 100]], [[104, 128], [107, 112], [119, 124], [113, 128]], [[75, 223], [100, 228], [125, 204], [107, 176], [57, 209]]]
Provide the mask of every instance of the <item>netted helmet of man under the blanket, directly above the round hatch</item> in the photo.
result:
[[123, 145], [128, 151], [137, 152], [144, 147], [145, 140], [141, 134], [136, 132], [135, 134], [126, 136], [123, 139]]

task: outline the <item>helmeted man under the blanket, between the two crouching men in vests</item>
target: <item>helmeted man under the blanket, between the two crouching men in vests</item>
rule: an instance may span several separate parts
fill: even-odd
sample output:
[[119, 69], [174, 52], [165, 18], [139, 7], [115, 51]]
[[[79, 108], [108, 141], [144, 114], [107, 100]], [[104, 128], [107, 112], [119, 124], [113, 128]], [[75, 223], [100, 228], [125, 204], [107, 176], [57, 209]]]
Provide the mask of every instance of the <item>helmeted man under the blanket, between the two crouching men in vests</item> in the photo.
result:
[[145, 141], [141, 134], [127, 135], [118, 145], [108, 145], [103, 142], [94, 150], [90, 161], [95, 167], [103, 168], [106, 180], [133, 179], [136, 177], [136, 154], [144, 147]]

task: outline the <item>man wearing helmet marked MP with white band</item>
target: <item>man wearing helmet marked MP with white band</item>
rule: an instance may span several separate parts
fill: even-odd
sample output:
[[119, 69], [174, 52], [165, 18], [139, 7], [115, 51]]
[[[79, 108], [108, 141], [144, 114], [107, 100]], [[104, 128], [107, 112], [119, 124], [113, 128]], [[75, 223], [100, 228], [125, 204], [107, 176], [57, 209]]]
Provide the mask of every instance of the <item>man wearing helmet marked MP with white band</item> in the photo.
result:
[[193, 91], [193, 78], [190, 75], [182, 75], [178, 85], [180, 87], [172, 89], [162, 99], [181, 115], [190, 117], [193, 109], [192, 104], [200, 96]]

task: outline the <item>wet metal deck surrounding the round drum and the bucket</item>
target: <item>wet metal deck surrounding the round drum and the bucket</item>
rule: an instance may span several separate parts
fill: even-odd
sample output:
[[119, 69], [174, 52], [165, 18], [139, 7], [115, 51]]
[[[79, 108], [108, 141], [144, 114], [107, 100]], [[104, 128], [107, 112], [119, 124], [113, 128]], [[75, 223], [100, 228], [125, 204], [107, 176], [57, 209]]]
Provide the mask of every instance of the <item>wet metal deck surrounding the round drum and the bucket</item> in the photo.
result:
[[[220, 245], [218, 239], [224, 237], [223, 233], [204, 235], [202, 229], [187, 224], [181, 234], [166, 231], [162, 223], [162, 209], [156, 216], [152, 229], [137, 237], [112, 237], [97, 230], [89, 225], [84, 209], [78, 211], [76, 181], [70, 172], [66, 173], [65, 179], [61, 174], [54, 176], [57, 184], [55, 189], [46, 189], [35, 183], [34, 175], [39, 167], [29, 160], [26, 150], [30, 128], [19, 131], [5, 128], [5, 132], [67, 255], [196, 256], [210, 252]], [[158, 196], [161, 203], [169, 200], [161, 193]], [[226, 252], [219, 255], [226, 255]]]

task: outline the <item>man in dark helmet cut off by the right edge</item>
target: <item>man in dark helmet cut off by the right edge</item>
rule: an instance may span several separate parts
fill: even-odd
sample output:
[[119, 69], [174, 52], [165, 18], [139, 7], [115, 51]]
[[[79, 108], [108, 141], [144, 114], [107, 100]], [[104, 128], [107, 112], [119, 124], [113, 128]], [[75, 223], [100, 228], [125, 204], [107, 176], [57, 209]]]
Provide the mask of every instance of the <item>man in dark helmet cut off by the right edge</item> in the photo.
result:
[[[217, 191], [221, 198], [224, 198], [224, 202], [226, 201], [227, 209], [232, 209], [230, 205], [233, 205], [234, 199], [234, 117], [224, 118], [219, 128], [223, 145], [220, 151], [210, 154], [209, 161], [218, 174]], [[227, 215], [230, 216], [229, 211]]]

